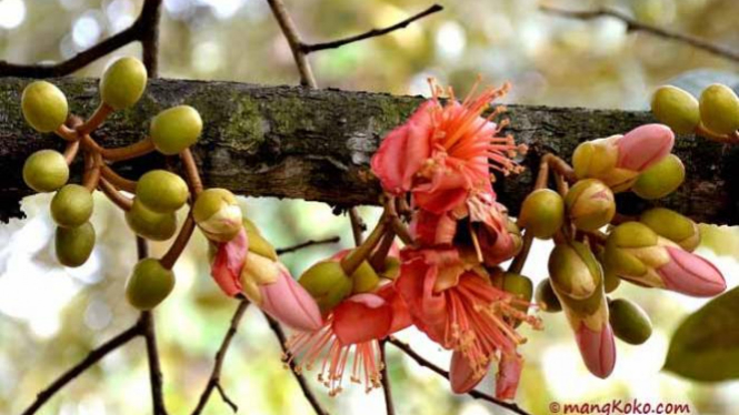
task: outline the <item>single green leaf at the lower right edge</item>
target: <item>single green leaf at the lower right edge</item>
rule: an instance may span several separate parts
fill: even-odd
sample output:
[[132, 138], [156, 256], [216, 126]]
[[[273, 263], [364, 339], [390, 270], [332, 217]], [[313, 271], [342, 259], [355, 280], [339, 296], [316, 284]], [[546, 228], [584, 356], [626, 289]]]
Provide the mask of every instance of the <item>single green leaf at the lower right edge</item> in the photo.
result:
[[686, 318], [670, 342], [663, 370], [702, 382], [739, 378], [739, 287]]

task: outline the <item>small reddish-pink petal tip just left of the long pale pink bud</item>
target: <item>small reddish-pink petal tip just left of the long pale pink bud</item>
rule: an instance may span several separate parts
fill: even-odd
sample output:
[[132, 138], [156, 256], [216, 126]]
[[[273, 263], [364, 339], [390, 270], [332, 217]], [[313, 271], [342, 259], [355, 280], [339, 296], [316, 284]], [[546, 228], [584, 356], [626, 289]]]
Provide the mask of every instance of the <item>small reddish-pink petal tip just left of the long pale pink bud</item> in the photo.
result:
[[247, 261], [248, 252], [249, 239], [243, 229], [231, 241], [217, 244], [210, 274], [228, 296], [234, 296], [241, 292], [239, 275]]

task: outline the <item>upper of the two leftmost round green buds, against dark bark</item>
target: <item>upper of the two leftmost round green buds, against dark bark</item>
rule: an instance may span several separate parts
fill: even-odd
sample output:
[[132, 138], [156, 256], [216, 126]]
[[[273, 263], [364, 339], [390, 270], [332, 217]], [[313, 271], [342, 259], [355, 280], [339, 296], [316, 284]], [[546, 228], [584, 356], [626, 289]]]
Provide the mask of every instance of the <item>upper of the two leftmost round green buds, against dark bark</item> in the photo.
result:
[[69, 111], [64, 93], [47, 81], [34, 81], [23, 89], [21, 110], [26, 122], [38, 132], [57, 130]]

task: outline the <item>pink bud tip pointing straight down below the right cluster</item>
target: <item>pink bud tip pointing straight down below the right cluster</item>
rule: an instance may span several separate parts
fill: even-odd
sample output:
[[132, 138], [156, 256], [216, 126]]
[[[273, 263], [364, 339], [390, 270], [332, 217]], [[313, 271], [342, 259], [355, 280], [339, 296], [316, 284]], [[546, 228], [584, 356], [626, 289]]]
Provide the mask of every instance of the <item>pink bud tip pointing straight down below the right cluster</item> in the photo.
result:
[[575, 337], [580, 347], [582, 361], [593, 375], [606, 378], [616, 366], [616, 342], [610, 323], [605, 323], [599, 332], [592, 331], [580, 323]]

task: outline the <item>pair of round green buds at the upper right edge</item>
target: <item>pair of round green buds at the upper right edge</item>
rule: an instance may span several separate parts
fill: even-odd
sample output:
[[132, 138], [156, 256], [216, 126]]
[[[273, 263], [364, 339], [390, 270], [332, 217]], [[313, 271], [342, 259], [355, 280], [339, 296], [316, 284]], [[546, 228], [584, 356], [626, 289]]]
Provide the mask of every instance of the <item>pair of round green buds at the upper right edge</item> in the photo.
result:
[[739, 130], [739, 97], [720, 83], [706, 88], [699, 100], [680, 88], [661, 87], [652, 95], [651, 111], [678, 134], [736, 139]]

